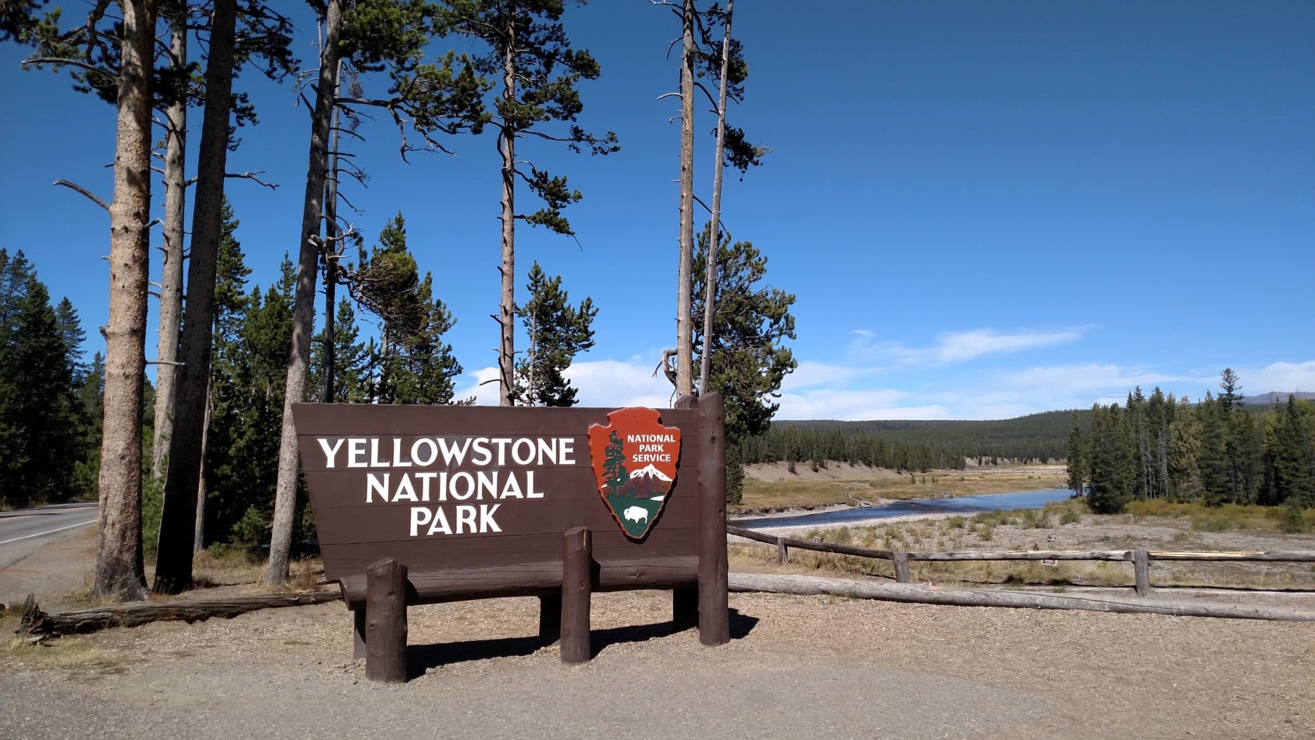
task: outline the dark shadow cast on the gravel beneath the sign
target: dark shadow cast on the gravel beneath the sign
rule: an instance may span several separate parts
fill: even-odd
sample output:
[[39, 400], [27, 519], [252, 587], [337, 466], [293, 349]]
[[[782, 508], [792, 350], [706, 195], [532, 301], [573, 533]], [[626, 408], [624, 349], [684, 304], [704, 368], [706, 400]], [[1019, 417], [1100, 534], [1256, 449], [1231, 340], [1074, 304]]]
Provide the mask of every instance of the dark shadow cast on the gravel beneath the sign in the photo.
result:
[[[753, 631], [757, 621], [756, 616], [748, 616], [736, 608], [730, 610], [731, 640], [746, 637]], [[671, 621], [594, 629], [590, 635], [590, 647], [596, 657], [610, 645], [644, 643], [658, 637], [668, 637], [677, 632], [681, 631]], [[417, 678], [425, 674], [425, 669], [466, 661], [529, 656], [542, 647], [543, 643], [538, 637], [498, 637], [494, 640], [409, 645], [406, 648], [406, 675]]]

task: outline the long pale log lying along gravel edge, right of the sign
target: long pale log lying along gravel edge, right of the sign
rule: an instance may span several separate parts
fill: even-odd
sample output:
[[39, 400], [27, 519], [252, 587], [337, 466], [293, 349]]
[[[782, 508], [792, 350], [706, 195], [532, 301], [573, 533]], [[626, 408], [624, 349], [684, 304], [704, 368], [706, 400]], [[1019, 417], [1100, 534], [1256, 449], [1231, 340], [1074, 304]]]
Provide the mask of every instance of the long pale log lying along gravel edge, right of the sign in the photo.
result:
[[856, 599], [944, 604], [960, 607], [1011, 607], [1106, 611], [1115, 614], [1162, 614], [1169, 616], [1214, 616], [1224, 619], [1272, 619], [1282, 621], [1315, 621], [1315, 611], [1269, 606], [1202, 604], [1164, 602], [1160, 599], [1124, 598], [1116, 602], [1016, 591], [972, 589], [936, 589], [902, 583], [869, 583], [819, 575], [776, 575], [765, 573], [731, 573], [729, 586], [738, 593], [796, 594], [802, 596], [830, 594]]

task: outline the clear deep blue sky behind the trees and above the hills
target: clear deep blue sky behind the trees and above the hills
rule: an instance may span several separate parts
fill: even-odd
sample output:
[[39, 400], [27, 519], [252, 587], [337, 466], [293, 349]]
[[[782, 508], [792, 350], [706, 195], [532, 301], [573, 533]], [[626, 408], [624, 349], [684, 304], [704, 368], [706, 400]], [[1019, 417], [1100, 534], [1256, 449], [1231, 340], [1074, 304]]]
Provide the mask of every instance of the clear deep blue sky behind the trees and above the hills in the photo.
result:
[[[66, 5], [80, 14], [78, 0]], [[310, 66], [313, 21], [288, 8]], [[1226, 365], [1247, 392], [1315, 390], [1315, 5], [800, 8], [738, 8], [751, 76], [731, 122], [772, 154], [729, 176], [725, 195], [735, 238], [798, 296], [800, 370], [780, 417], [1006, 417], [1137, 383], [1197, 396]], [[679, 124], [676, 101], [658, 96], [676, 80], [665, 49], [679, 26], [643, 0], [596, 0], [565, 21], [602, 63], [583, 86], [581, 122], [615, 130], [622, 150], [522, 147], [585, 198], [567, 212], [580, 246], [518, 230], [518, 282], [538, 259], [600, 305], [597, 346], [572, 369], [584, 403], [665, 406], [669, 386], [651, 373], [675, 345]], [[50, 183], [109, 199], [113, 108], [62, 75], [24, 72], [24, 55], [0, 47], [3, 245], [25, 250], [99, 341], [108, 219]], [[227, 188], [252, 279], [268, 284], [297, 246], [309, 124], [291, 84], [250, 70], [237, 84], [260, 124], [241, 130], [229, 169], [283, 186]], [[713, 125], [706, 113], [697, 125], [705, 199]], [[351, 150], [371, 179], [348, 192], [362, 211], [351, 219], [373, 238], [405, 213], [459, 320], [462, 390], [488, 400], [493, 386], [476, 382], [494, 365], [494, 140], [455, 138], [456, 157], [405, 165], [391, 121], [362, 133]], [[150, 327], [154, 357], [154, 307]]]

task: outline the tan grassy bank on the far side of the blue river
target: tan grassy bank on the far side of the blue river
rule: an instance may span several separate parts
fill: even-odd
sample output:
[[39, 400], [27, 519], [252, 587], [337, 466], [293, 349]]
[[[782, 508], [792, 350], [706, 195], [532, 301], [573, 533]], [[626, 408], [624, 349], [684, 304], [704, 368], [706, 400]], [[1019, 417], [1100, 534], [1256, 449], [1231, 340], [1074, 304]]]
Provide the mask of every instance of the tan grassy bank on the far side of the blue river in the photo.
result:
[[811, 470], [807, 462], [748, 465], [744, 467], [744, 499], [730, 507], [731, 516], [817, 511], [863, 502], [934, 499], [1034, 491], [1064, 486], [1063, 465], [1019, 465], [896, 473], [865, 465], [830, 462]]

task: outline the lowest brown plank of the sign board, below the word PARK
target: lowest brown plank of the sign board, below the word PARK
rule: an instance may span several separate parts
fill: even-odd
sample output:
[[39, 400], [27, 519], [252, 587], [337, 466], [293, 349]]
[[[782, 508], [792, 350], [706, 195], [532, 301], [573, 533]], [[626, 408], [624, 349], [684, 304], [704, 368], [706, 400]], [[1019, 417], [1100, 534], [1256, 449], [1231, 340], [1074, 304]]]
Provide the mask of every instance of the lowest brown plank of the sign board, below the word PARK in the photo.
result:
[[[698, 554], [698, 529], [672, 528], [659, 523], [643, 542], [631, 541], [611, 524], [593, 533], [594, 558], [601, 561]], [[396, 558], [412, 571], [452, 568], [497, 568], [530, 562], [560, 562], [562, 532], [509, 537], [451, 537], [366, 544], [320, 545], [325, 578], [339, 581], [359, 575], [375, 561]]]

